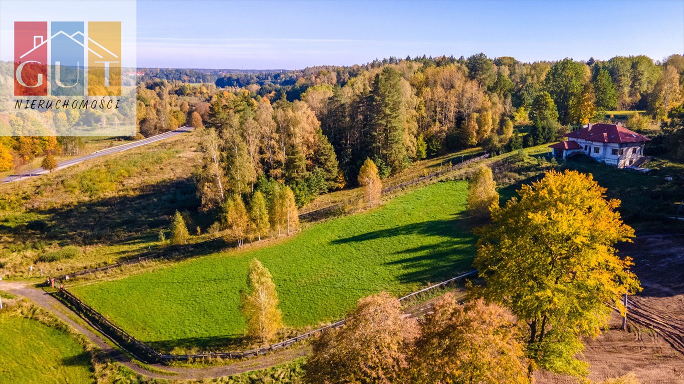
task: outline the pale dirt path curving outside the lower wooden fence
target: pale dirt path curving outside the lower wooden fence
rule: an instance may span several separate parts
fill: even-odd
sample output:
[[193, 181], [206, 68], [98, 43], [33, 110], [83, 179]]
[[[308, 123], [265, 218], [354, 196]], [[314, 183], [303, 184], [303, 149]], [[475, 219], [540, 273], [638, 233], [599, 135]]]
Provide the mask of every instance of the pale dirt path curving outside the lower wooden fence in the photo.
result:
[[135, 364], [121, 351], [113, 348], [110, 344], [105, 342], [105, 338], [103, 336], [95, 334], [93, 331], [88, 329], [88, 327], [85, 327], [71, 319], [70, 316], [67, 315], [66, 308], [64, 308], [62, 303], [42, 289], [34, 288], [27, 282], [8, 282], [7, 280], [3, 280], [1, 288], [5, 291], [13, 293], [14, 295], [26, 297], [38, 306], [48, 310], [71, 327], [77, 329], [77, 331], [81, 332], [81, 334], [94, 342], [109, 359], [127, 366], [137, 374], [154, 377], [156, 379], [213, 379], [216, 377], [229, 376], [231, 374], [239, 374], [242, 372], [249, 372], [251, 370], [259, 370], [276, 366], [278, 364], [287, 363], [288, 361], [296, 359], [297, 357], [308, 354], [310, 351], [308, 345], [302, 344], [300, 346], [293, 346], [289, 349], [278, 351], [277, 353], [270, 353], [268, 355], [255, 357], [254, 359], [236, 361], [233, 364], [201, 368], [172, 367], [165, 366], [163, 364], [150, 364], [151, 367], [156, 368], [157, 370], [174, 372], [174, 374], [167, 375], [161, 372], [147, 370]]

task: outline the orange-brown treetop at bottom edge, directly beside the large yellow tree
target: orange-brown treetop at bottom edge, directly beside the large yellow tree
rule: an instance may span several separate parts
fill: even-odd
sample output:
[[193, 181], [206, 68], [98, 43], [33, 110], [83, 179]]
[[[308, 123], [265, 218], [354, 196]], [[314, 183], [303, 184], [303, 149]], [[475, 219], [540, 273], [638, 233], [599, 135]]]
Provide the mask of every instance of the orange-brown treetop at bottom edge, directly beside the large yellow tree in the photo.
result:
[[460, 305], [447, 293], [421, 323], [404, 382], [530, 383], [518, 336], [508, 310], [483, 299]]

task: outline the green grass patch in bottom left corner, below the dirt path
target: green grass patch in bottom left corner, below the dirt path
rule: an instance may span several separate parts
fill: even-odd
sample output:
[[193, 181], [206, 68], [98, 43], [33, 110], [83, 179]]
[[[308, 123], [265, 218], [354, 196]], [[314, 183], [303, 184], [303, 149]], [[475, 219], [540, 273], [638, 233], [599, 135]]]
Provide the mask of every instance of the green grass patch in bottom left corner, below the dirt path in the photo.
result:
[[90, 357], [62, 331], [0, 316], [0, 383], [92, 383]]

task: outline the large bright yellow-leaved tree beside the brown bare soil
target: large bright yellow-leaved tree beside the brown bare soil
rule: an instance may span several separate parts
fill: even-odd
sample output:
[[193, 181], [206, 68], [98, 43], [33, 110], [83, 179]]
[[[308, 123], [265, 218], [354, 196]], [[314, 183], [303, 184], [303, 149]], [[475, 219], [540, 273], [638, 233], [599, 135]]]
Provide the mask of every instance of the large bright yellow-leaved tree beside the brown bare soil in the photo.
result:
[[591, 175], [549, 171], [476, 231], [473, 266], [486, 284], [475, 291], [527, 324], [527, 355], [552, 372], [585, 374], [580, 337], [600, 334], [611, 305], [624, 312], [620, 297], [640, 290], [614, 247], [634, 231], [605, 191]]

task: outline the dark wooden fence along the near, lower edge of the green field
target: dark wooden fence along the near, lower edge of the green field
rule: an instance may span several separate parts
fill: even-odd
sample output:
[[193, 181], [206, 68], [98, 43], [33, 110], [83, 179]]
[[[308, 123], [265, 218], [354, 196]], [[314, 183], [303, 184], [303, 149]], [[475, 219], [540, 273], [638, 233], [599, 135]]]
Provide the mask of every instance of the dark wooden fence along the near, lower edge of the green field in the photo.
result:
[[[451, 278], [449, 280], [440, 282], [438, 284], [428, 286], [427, 288], [421, 289], [420, 291], [410, 293], [404, 297], [399, 298], [399, 301], [404, 301], [406, 299], [409, 299], [410, 297], [415, 297], [416, 295], [420, 295], [421, 293], [432, 291], [434, 289], [446, 286], [448, 284], [458, 284], [462, 282], [462, 280], [464, 280], [465, 278], [475, 278], [476, 276], [477, 269], [470, 271], [466, 274], [456, 276], [455, 278]], [[100, 329], [103, 332], [103, 334], [119, 342], [124, 349], [127, 349], [127, 351], [133, 353], [133, 355], [137, 356], [142, 361], [159, 361], [165, 364], [168, 364], [170, 361], [187, 361], [190, 359], [241, 359], [245, 357], [255, 357], [259, 355], [264, 355], [271, 351], [276, 351], [278, 349], [282, 349], [292, 344], [295, 344], [295, 342], [300, 342], [302, 340], [310, 338], [311, 336], [315, 336], [316, 334], [320, 334], [321, 332], [326, 331], [328, 329], [342, 327], [345, 323], [345, 319], [342, 319], [340, 321], [336, 321], [335, 323], [326, 325], [324, 327], [314, 329], [313, 331], [308, 331], [304, 334], [300, 334], [293, 338], [289, 338], [281, 342], [276, 342], [275, 344], [271, 344], [269, 346], [263, 346], [257, 349], [250, 349], [249, 351], [218, 351], [207, 353], [194, 353], [187, 355], [161, 354], [152, 349], [147, 344], [144, 344], [144, 342], [137, 340], [137, 338], [131, 336], [127, 331], [124, 331], [121, 327], [118, 327], [118, 325], [115, 325], [114, 323], [109, 321], [109, 319], [107, 319], [103, 314], [97, 312], [92, 307], [88, 306], [88, 304], [81, 301], [81, 299], [79, 299], [66, 289], [64, 289], [63, 286], [60, 288], [59, 295], [62, 297], [64, 301], [66, 301], [68, 304], [72, 306], [73, 310], [75, 310], [75, 312], [79, 314], [79, 316], [83, 317], [83, 319], [89, 320], [92, 323], [94, 323], [94, 325], [96, 325], [96, 327], [98, 327], [98, 329]]]

